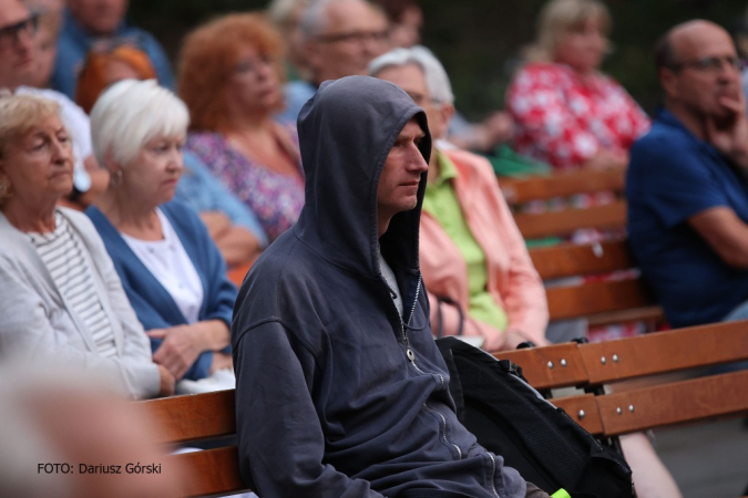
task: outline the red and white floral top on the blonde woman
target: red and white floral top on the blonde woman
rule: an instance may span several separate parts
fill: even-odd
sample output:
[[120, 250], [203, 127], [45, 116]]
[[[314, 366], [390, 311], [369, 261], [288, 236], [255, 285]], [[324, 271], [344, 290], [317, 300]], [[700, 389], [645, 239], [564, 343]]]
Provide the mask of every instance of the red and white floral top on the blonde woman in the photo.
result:
[[601, 148], [625, 152], [649, 129], [649, 118], [611, 77], [582, 80], [565, 64], [532, 63], [514, 77], [506, 107], [520, 154], [555, 168], [574, 168]]

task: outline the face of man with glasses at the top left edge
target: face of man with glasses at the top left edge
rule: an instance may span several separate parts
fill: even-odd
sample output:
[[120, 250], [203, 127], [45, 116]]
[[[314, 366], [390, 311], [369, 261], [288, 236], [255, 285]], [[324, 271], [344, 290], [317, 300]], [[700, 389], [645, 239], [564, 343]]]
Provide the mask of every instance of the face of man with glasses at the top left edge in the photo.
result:
[[0, 87], [14, 90], [35, 70], [35, 21], [18, 0], [0, 0]]

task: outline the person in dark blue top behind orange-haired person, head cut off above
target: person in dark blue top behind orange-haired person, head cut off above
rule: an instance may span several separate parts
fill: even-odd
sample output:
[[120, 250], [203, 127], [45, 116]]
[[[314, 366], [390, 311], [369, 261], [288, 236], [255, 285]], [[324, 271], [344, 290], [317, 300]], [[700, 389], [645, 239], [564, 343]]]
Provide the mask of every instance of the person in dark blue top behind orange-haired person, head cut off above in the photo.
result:
[[85, 54], [94, 45], [109, 44], [113, 39], [126, 39], [140, 46], [148, 54], [158, 82], [166, 87], [174, 86], [166, 53], [151, 33], [127, 24], [126, 10], [127, 0], [68, 0], [52, 74], [54, 90], [73, 98]]

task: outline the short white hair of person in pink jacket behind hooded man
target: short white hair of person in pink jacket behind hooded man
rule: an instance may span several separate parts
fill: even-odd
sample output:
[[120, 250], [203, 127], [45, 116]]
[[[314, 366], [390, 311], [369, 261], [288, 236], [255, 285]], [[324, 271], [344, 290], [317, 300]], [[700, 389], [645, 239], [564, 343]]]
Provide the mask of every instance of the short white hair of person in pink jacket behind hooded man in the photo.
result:
[[377, 76], [387, 68], [399, 68], [408, 64], [416, 64], [423, 71], [426, 86], [429, 89], [433, 101], [440, 104], [454, 103], [452, 85], [444, 66], [429, 49], [422, 45], [414, 45], [410, 49], [395, 49], [379, 55], [369, 63], [369, 75]]

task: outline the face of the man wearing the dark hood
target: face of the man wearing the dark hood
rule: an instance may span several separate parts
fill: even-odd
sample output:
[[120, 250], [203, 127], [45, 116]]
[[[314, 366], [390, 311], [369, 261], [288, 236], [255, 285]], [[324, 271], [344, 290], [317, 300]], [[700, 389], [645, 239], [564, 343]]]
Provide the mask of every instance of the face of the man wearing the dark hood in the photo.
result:
[[429, 169], [418, 144], [426, 134], [416, 118], [412, 118], [395, 141], [377, 187], [379, 218], [390, 219], [398, 212], [407, 211], [418, 204], [418, 186], [421, 175]]

